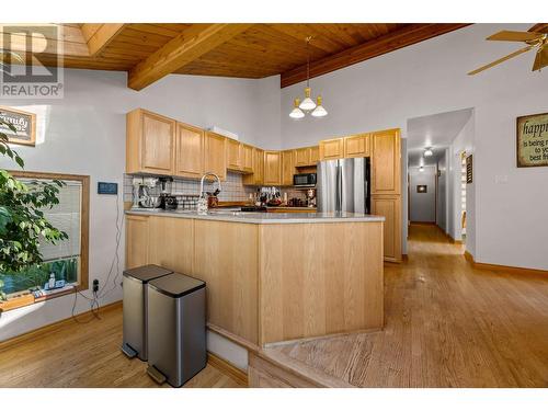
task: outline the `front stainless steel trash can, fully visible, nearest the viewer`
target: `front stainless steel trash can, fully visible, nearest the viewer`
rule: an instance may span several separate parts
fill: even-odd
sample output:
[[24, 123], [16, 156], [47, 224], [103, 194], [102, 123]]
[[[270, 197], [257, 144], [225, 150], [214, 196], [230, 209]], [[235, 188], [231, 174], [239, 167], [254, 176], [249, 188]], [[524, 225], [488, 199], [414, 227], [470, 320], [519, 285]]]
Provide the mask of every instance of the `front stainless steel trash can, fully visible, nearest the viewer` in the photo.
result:
[[152, 279], [148, 286], [148, 374], [181, 387], [207, 363], [203, 281], [183, 274]]

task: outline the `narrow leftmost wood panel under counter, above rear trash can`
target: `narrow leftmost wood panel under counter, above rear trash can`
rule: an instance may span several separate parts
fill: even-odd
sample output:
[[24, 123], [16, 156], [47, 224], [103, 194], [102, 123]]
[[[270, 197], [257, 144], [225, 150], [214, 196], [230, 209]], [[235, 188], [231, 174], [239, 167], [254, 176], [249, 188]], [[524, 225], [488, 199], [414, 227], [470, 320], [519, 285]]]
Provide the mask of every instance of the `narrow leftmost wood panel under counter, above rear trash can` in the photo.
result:
[[148, 219], [126, 215], [126, 270], [148, 264]]

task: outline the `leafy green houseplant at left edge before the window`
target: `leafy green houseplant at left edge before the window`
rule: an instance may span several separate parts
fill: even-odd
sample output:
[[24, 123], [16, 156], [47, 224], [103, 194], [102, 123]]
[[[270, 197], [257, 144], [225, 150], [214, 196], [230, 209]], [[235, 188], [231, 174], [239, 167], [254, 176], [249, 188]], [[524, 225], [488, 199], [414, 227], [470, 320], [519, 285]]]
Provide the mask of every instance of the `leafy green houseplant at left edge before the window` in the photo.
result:
[[[0, 127], [14, 127], [0, 119]], [[0, 129], [0, 155], [13, 160], [21, 169], [24, 161], [8, 146], [8, 136]], [[41, 240], [57, 243], [68, 238], [65, 231], [55, 228], [42, 212], [59, 204], [59, 187], [65, 183], [33, 182], [24, 184], [7, 170], [0, 169], [0, 273], [20, 273], [43, 263]], [[0, 299], [5, 299], [0, 279]]]

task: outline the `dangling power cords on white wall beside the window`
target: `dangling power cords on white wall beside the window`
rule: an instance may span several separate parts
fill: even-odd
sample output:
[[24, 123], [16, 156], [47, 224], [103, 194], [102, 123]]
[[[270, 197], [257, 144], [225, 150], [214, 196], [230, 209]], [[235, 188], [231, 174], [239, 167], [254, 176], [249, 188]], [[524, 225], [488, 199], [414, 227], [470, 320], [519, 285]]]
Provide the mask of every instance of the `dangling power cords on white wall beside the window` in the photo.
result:
[[[116, 288], [116, 282], [119, 278], [119, 243], [122, 240], [122, 228], [124, 226], [124, 220], [122, 220], [122, 224], [119, 224], [119, 201], [118, 199], [119, 199], [119, 196], [116, 195], [116, 248], [114, 250], [114, 256], [112, 259], [111, 267], [109, 270], [109, 274], [106, 275], [106, 279], [104, 282], [104, 285], [101, 288], [99, 288], [99, 281], [93, 279], [93, 287], [92, 287], [93, 297], [92, 298], [83, 295], [77, 288], [77, 286], [73, 285], [75, 301], [72, 304], [72, 319], [78, 323], [88, 323], [88, 322], [92, 321], [94, 318], [98, 320], [101, 319], [101, 317], [99, 316], [99, 309], [100, 309], [99, 300], [101, 298], [104, 298], [105, 296], [107, 296], [110, 293], [112, 293]], [[112, 276], [112, 272], [114, 270], [114, 264], [116, 264], [116, 274], [114, 275], [114, 278], [112, 281], [112, 287], [105, 290], [105, 288], [109, 286], [109, 281]], [[93, 318], [89, 319], [88, 321], [80, 321], [78, 319], [77, 315], [75, 313], [77, 301], [78, 301], [78, 295], [85, 298], [90, 302], [90, 311], [93, 315]]]

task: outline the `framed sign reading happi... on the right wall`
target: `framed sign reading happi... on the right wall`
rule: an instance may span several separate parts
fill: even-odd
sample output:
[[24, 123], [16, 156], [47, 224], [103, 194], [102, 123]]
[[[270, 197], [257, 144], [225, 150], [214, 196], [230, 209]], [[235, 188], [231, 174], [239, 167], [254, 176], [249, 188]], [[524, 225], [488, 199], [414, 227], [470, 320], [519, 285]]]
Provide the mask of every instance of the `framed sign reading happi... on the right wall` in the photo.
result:
[[517, 167], [548, 165], [548, 113], [517, 117]]

